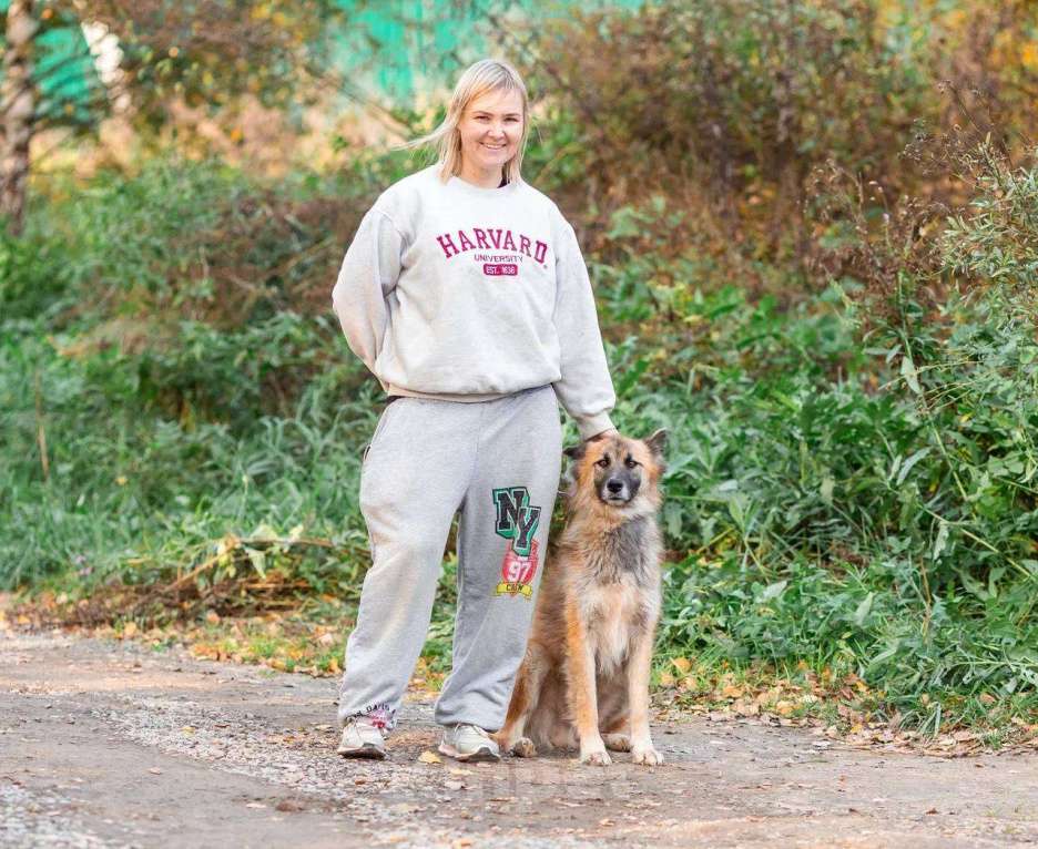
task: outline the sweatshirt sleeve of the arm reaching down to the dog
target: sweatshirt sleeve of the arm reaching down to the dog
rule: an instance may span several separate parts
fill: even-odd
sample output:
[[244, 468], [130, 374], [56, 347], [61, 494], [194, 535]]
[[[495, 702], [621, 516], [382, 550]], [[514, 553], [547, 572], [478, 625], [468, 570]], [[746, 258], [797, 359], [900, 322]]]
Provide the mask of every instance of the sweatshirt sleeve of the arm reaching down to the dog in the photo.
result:
[[559, 335], [562, 377], [553, 383], [566, 411], [577, 421], [581, 439], [613, 427], [609, 411], [617, 402], [606, 364], [594, 295], [577, 234], [563, 219], [556, 254], [554, 325]]

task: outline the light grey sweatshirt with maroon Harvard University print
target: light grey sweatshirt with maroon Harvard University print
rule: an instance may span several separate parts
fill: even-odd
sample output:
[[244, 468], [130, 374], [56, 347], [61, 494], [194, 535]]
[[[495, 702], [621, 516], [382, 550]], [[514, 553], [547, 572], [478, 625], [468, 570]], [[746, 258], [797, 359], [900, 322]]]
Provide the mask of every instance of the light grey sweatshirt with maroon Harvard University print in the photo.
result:
[[559, 208], [529, 184], [446, 184], [439, 165], [364, 216], [332, 304], [389, 395], [484, 401], [551, 383], [587, 439], [615, 402], [588, 269]]

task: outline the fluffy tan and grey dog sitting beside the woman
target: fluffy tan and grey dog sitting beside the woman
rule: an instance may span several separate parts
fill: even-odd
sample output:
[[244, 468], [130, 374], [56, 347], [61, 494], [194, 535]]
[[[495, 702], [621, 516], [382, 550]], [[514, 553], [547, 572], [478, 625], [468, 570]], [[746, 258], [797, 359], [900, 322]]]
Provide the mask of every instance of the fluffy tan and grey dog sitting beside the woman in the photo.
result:
[[584, 764], [608, 766], [606, 749], [663, 763], [649, 733], [649, 672], [665, 443], [665, 430], [644, 441], [610, 433], [564, 452], [573, 460], [567, 524], [497, 734], [503, 751], [579, 746]]

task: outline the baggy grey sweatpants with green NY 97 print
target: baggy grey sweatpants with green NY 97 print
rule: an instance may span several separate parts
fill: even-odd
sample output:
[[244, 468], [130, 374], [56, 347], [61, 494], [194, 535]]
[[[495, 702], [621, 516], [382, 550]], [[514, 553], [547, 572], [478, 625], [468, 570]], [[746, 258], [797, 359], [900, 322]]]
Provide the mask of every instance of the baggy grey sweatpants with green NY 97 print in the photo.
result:
[[389, 729], [425, 643], [447, 534], [458, 526], [458, 610], [442, 725], [497, 730], [526, 649], [559, 487], [554, 390], [492, 401], [399, 398], [360, 472], [372, 545], [346, 644], [338, 716]]

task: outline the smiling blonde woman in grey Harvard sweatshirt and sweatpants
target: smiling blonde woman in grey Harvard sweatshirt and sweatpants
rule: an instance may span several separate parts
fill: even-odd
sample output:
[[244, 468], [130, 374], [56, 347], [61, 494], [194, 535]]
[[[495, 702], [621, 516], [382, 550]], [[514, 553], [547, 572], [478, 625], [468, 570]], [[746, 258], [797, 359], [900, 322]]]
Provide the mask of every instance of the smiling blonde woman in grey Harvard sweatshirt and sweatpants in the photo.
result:
[[498, 760], [558, 490], [558, 402], [583, 439], [614, 403], [573, 228], [520, 175], [526, 86], [484, 60], [442, 124], [415, 144], [439, 161], [365, 215], [332, 293], [350, 349], [389, 403], [360, 472], [372, 567], [346, 646], [346, 757], [384, 735], [421, 651], [444, 548], [458, 531], [452, 668], [436, 704], [440, 751]]

